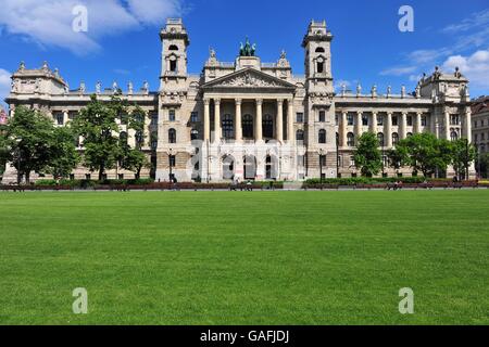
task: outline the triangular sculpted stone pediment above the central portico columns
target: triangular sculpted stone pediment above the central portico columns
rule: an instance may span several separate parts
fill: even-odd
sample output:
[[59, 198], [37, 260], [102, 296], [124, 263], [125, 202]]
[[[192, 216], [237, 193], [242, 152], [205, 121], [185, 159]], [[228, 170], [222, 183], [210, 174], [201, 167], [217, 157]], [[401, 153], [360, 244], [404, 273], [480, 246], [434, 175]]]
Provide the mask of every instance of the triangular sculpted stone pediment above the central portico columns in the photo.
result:
[[267, 89], [296, 89], [296, 86], [283, 79], [262, 73], [254, 68], [242, 69], [202, 86], [210, 88], [267, 88]]

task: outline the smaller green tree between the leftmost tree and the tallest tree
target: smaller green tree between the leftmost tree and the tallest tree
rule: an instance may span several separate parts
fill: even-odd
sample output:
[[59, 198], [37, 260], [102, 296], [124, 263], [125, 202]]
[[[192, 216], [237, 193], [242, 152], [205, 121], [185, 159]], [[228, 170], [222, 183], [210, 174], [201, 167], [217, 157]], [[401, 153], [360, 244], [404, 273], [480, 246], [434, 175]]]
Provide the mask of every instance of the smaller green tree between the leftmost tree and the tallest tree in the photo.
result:
[[78, 165], [79, 155], [71, 128], [54, 128], [50, 156], [46, 172], [51, 174], [54, 179], [67, 177]]

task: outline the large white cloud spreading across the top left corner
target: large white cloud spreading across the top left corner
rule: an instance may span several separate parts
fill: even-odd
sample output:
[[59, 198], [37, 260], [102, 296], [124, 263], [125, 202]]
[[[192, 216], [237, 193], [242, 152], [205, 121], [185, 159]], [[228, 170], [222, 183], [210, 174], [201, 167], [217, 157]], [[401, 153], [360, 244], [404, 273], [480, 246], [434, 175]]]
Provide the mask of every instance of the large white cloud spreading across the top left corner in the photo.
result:
[[[40, 46], [86, 54], [100, 49], [101, 37], [138, 29], [141, 25], [163, 25], [166, 16], [178, 15], [180, 9], [180, 0], [127, 1], [0, 0], [0, 28], [3, 35], [21, 35]], [[88, 9], [87, 33], [72, 28], [75, 18], [72, 11], [79, 4]]]

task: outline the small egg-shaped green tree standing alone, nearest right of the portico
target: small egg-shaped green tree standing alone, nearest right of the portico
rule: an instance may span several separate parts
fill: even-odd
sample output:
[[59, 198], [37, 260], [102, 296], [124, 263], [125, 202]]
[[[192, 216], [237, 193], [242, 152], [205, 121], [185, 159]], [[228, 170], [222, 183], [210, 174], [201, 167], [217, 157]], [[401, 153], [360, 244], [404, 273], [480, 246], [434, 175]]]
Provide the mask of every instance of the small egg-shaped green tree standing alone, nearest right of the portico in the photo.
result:
[[359, 138], [359, 144], [354, 152], [354, 160], [362, 176], [372, 177], [383, 169], [383, 156], [378, 147], [379, 142], [375, 133], [364, 132]]

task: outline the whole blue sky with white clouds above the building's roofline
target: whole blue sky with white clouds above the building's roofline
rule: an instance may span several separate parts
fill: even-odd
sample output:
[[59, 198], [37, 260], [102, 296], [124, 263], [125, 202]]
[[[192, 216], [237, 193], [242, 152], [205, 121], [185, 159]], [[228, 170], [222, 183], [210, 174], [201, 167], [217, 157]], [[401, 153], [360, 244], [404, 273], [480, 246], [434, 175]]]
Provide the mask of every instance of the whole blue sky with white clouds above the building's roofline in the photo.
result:
[[[88, 33], [72, 30], [76, 4], [88, 9]], [[401, 5], [414, 10], [414, 31], [401, 33]], [[363, 90], [376, 83], [414, 89], [435, 65], [460, 66], [472, 80], [471, 94], [489, 93], [489, 3], [460, 1], [327, 0], [0, 0], [0, 98], [9, 75], [25, 61], [27, 68], [48, 61], [75, 89], [84, 80], [93, 90], [116, 80], [158, 89], [159, 29], [167, 16], [181, 16], [190, 35], [189, 72], [199, 74], [212, 47], [221, 61], [233, 61], [249, 36], [263, 62], [275, 62], [283, 49], [293, 73], [303, 74], [302, 37], [312, 18], [326, 20], [335, 35], [333, 72], [337, 85]]]

